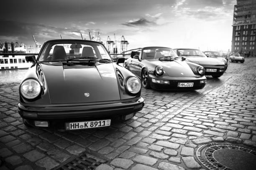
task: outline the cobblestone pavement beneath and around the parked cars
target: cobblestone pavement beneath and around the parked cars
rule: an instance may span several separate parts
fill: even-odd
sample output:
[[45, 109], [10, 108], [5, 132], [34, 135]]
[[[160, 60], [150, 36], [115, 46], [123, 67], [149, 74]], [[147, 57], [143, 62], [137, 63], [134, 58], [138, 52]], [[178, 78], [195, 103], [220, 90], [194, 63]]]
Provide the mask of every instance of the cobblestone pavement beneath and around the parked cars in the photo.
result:
[[219, 79], [208, 77], [202, 90], [143, 89], [143, 110], [104, 129], [26, 128], [17, 112], [18, 85], [0, 84], [1, 170], [50, 170], [84, 151], [107, 160], [97, 170], [204, 169], [195, 157], [202, 144], [256, 148], [256, 58], [230, 63]]

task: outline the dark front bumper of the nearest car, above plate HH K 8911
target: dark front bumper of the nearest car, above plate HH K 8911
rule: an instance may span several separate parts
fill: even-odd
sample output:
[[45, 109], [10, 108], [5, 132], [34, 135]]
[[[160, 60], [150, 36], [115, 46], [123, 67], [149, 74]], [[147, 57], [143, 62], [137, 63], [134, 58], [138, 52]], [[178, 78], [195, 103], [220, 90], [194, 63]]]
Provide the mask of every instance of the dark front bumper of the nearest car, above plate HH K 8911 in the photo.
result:
[[63, 122], [114, 119], [142, 110], [144, 99], [137, 97], [115, 102], [94, 102], [79, 104], [28, 104], [18, 103], [18, 113], [33, 125], [35, 120], [48, 121], [49, 126], [64, 128]]

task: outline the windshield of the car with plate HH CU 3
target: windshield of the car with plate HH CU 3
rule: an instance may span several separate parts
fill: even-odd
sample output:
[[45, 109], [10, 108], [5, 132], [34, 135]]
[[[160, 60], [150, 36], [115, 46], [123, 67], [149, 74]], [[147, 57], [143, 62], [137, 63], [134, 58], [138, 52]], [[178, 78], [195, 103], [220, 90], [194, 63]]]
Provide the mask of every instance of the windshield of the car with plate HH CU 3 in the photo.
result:
[[178, 57], [174, 50], [164, 47], [146, 47], [143, 48], [141, 59], [159, 59], [161, 57]]

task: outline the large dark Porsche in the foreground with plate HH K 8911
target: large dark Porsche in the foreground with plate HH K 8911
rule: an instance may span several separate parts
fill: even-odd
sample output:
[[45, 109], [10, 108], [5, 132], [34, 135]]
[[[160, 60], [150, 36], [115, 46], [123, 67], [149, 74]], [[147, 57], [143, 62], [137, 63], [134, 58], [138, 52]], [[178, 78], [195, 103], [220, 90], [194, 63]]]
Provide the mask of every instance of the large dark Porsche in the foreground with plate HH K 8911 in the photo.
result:
[[144, 106], [141, 81], [114, 63], [104, 45], [87, 40], [44, 43], [20, 84], [18, 113], [27, 126], [64, 130], [110, 126]]

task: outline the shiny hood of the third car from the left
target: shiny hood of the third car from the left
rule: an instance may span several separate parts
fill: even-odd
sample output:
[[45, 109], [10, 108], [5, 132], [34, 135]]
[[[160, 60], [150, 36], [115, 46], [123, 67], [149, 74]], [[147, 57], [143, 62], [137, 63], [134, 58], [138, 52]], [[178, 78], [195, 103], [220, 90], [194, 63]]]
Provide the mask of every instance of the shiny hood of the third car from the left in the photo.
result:
[[194, 62], [202, 66], [224, 65], [223, 62], [215, 58], [209, 58], [209, 57], [186, 57], [186, 58], [187, 58], [187, 61]]

